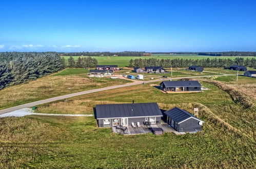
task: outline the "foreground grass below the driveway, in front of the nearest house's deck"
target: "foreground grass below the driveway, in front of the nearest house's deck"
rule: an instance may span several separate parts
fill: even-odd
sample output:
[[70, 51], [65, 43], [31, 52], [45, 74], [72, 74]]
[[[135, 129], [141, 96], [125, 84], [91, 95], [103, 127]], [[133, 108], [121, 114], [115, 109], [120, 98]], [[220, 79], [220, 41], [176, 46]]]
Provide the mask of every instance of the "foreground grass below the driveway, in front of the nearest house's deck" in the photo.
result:
[[0, 119], [0, 167], [211, 168], [255, 166], [255, 144], [203, 117], [196, 134], [122, 136], [98, 129], [93, 117]]

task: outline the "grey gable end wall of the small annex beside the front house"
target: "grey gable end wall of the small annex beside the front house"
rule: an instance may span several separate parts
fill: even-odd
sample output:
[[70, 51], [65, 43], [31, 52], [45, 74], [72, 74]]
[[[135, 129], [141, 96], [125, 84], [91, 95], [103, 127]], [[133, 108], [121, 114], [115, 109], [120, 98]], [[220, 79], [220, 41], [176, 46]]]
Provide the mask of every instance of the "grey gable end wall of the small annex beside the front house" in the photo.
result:
[[179, 124], [178, 132], [194, 132], [201, 131], [202, 126], [199, 125], [199, 120], [190, 118]]

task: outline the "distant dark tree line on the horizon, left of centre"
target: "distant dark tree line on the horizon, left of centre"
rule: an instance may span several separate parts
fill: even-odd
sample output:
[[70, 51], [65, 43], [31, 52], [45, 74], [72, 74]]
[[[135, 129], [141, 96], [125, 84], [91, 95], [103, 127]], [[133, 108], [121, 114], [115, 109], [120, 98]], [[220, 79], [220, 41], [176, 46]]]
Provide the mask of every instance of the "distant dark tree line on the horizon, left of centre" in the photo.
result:
[[145, 52], [134, 52], [134, 51], [124, 51], [124, 52], [69, 52], [60, 53], [66, 56], [143, 56]]

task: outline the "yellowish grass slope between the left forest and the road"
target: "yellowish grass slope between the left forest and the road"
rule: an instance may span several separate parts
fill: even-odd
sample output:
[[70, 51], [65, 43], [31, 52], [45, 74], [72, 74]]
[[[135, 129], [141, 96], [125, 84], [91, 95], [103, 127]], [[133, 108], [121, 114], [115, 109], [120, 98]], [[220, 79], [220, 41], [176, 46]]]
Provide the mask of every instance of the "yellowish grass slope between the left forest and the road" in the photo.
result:
[[[65, 69], [54, 76], [45, 76], [22, 85], [10, 86], [0, 90], [0, 109], [54, 96], [131, 82], [130, 80], [110, 79], [109, 77], [88, 77], [86, 74], [80, 74], [83, 72], [85, 72], [83, 69], [78, 69], [78, 71]], [[79, 74], [69, 75], [70, 73]]]

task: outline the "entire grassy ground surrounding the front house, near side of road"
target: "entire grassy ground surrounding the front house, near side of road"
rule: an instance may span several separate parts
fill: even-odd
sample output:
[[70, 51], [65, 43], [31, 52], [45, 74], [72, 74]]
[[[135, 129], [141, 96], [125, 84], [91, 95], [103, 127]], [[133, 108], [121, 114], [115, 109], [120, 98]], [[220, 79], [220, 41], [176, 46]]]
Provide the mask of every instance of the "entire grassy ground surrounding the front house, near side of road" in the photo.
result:
[[0, 168], [253, 168], [254, 109], [234, 103], [208, 82], [201, 83], [209, 90], [166, 94], [151, 85], [137, 85], [38, 105], [37, 110], [93, 114], [95, 104], [132, 100], [157, 102], [163, 110], [176, 106], [192, 112], [196, 107], [205, 121], [196, 134], [123, 136], [97, 128], [94, 117], [0, 118]]

